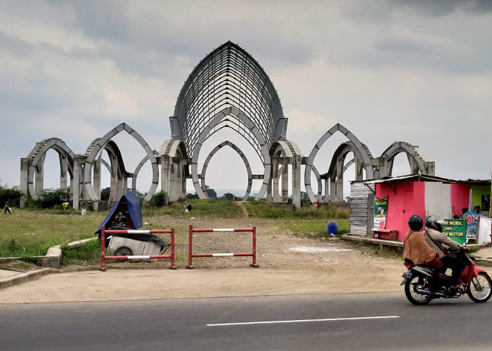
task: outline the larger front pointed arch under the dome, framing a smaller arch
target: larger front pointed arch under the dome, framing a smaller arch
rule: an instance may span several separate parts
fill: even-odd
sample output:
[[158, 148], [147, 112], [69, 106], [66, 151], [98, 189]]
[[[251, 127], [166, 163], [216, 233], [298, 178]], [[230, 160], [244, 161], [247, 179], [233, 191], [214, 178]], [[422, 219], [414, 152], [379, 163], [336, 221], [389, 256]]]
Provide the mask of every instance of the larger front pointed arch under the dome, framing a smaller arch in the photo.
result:
[[212, 129], [215, 126], [217, 126], [229, 114], [233, 114], [235, 118], [240, 119], [247, 126], [247, 128], [250, 129], [252, 135], [254, 135], [254, 137], [257, 138], [259, 145], [261, 147], [261, 154], [263, 154], [264, 166], [265, 166], [263, 183], [257, 194], [257, 199], [261, 199], [266, 192], [266, 188], [268, 187], [268, 180], [271, 174], [271, 161], [270, 161], [270, 155], [268, 154], [268, 147], [266, 145], [266, 140], [264, 140], [263, 135], [261, 135], [259, 129], [254, 124], [254, 122], [249, 117], [247, 117], [245, 114], [235, 109], [234, 107], [227, 107], [226, 109], [216, 114], [214, 119], [210, 121], [210, 123], [198, 136], [198, 140], [195, 144], [195, 148], [193, 149], [193, 154], [191, 158], [191, 176], [193, 179], [193, 186], [195, 187], [195, 191], [197, 192], [198, 197], [200, 197], [200, 199], [207, 199], [207, 196], [203, 192], [202, 187], [200, 185], [200, 180], [198, 179], [198, 157], [200, 155], [200, 150], [202, 148], [202, 145], [203, 143], [205, 143], [205, 140], [209, 138], [209, 134], [212, 131]]

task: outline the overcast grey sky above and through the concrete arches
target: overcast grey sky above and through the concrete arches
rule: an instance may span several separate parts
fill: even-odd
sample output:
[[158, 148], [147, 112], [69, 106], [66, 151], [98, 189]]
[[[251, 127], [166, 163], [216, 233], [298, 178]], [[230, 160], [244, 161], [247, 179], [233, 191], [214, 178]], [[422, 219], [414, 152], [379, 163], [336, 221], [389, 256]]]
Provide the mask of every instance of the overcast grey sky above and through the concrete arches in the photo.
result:
[[[490, 179], [491, 33], [486, 0], [1, 0], [1, 184], [19, 185], [20, 158], [46, 138], [83, 154], [126, 122], [160, 150], [188, 74], [229, 40], [273, 81], [287, 138], [304, 155], [340, 123], [374, 157], [406, 141], [436, 162], [436, 176]], [[344, 141], [318, 153], [320, 173]], [[134, 171], [145, 153], [129, 135], [117, 143]], [[46, 168], [45, 185], [58, 187], [56, 152]], [[207, 184], [245, 188], [245, 175], [240, 157], [221, 150]]]

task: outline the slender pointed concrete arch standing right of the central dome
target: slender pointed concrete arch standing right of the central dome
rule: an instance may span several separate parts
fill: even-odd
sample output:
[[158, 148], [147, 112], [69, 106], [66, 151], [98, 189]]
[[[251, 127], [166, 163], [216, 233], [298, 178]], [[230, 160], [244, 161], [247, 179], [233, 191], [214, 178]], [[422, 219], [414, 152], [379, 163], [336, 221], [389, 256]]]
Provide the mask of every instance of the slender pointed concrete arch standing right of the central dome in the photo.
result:
[[356, 136], [351, 133], [347, 128], [342, 126], [342, 124], [335, 124], [335, 126], [332, 126], [329, 131], [327, 131], [323, 136], [318, 140], [318, 143], [314, 145], [313, 150], [311, 150], [311, 153], [309, 154], [309, 157], [306, 162], [306, 168], [304, 171], [304, 185], [306, 186], [306, 192], [309, 196], [309, 201], [315, 202], [316, 197], [313, 194], [313, 189], [311, 187], [311, 171], [313, 168], [313, 161], [314, 158], [316, 157], [316, 154], [318, 154], [318, 151], [321, 149], [323, 144], [330, 138], [333, 134], [337, 133], [339, 131], [343, 135], [347, 136], [349, 141], [354, 144], [355, 151], [354, 154], [356, 154], [356, 157], [358, 159], [362, 160], [362, 166], [365, 169], [365, 174], [368, 178], [373, 178], [374, 175], [374, 168], [370, 159], [370, 154], [367, 152], [367, 148], [363, 143], [361, 143]]

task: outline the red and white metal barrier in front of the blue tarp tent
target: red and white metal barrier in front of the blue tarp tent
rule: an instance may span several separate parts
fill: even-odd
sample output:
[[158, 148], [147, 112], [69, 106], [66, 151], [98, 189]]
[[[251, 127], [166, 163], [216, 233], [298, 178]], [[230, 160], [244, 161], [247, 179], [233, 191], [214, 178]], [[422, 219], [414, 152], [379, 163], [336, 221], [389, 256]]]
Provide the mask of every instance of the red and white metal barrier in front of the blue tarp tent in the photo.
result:
[[[171, 234], [171, 255], [157, 255], [157, 256], [106, 256], [105, 254], [105, 237], [106, 234]], [[160, 258], [170, 258], [171, 265], [169, 269], [176, 270], [176, 264], [174, 263], [174, 228], [169, 230], [106, 230], [105, 226], [101, 227], [101, 270], [106, 271], [105, 260], [152, 260]]]

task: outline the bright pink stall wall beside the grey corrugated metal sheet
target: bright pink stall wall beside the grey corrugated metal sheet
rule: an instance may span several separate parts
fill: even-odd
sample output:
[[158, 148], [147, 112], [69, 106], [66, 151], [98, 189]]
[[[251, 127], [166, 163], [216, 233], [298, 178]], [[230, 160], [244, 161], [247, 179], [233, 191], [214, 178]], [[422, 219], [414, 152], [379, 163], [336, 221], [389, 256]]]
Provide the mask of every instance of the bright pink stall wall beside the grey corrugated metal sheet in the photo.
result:
[[[396, 189], [396, 194], [390, 186]], [[379, 199], [388, 197], [386, 229], [398, 230], [398, 239], [403, 241], [409, 230], [408, 218], [413, 215], [425, 218], [425, 182], [380, 183], [376, 184], [375, 192]]]

